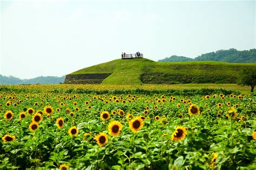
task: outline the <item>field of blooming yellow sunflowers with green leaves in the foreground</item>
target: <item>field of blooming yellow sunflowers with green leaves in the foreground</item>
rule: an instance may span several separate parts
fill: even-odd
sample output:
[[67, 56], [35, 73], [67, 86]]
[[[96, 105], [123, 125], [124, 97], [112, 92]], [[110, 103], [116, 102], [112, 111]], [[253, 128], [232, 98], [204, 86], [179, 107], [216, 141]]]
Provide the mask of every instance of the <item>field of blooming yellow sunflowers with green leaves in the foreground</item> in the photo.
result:
[[0, 169], [256, 169], [252, 94], [0, 86]]

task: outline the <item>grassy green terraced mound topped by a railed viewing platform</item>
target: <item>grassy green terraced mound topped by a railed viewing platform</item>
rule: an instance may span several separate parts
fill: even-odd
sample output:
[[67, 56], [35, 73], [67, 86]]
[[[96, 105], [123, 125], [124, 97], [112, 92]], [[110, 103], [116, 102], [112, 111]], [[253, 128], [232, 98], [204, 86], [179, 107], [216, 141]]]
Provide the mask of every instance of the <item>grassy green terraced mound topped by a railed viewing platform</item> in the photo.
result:
[[223, 62], [154, 62], [146, 58], [116, 59], [86, 67], [65, 78], [65, 84], [236, 83], [240, 69], [256, 64]]

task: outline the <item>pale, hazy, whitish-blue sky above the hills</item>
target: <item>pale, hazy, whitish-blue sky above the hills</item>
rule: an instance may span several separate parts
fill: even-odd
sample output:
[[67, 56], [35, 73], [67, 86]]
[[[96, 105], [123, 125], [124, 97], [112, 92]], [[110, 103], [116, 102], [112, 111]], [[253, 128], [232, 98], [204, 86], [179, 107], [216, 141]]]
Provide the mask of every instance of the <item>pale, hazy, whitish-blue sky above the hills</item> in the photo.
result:
[[157, 61], [255, 48], [255, 1], [0, 2], [4, 76], [63, 76], [122, 52]]

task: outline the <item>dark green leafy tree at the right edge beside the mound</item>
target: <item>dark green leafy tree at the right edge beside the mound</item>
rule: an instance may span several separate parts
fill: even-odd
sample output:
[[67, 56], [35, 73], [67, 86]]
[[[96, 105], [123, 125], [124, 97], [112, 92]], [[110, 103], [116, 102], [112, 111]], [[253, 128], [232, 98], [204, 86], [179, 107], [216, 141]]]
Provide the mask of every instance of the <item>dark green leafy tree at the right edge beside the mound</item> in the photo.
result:
[[239, 85], [251, 86], [251, 92], [253, 93], [256, 85], [256, 67], [246, 67], [240, 71], [240, 78], [238, 80]]

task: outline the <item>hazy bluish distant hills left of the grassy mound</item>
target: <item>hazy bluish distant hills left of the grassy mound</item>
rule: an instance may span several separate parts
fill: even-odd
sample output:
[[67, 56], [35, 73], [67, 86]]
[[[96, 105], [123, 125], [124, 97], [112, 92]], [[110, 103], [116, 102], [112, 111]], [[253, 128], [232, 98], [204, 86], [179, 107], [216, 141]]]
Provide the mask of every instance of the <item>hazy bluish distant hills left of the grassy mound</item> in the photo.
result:
[[32, 79], [19, 79], [14, 76], [2, 76], [0, 74], [0, 84], [7, 85], [18, 85], [18, 84], [59, 84], [63, 83], [65, 80], [65, 76], [62, 77], [54, 77], [54, 76], [40, 76]]

